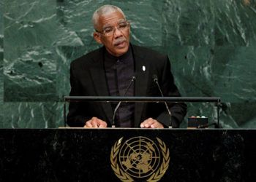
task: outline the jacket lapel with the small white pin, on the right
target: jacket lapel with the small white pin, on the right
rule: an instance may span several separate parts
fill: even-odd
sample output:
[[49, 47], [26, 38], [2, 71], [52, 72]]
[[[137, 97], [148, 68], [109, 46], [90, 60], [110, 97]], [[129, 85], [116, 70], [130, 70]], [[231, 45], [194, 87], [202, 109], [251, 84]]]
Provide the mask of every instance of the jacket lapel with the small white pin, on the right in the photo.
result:
[[[149, 64], [145, 58], [145, 52], [138, 50], [138, 47], [132, 46], [133, 56], [135, 60], [135, 96], [146, 96], [148, 85]], [[135, 103], [135, 127], [140, 127], [140, 122], [143, 122], [142, 113], [145, 103]]]

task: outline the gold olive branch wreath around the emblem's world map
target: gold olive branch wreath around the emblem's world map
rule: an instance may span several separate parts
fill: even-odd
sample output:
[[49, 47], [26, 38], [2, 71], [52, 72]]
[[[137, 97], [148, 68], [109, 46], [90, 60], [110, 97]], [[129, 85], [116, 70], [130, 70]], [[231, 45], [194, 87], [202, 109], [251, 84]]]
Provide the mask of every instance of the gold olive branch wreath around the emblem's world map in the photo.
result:
[[[116, 174], [116, 176], [124, 182], [132, 182], [134, 181], [131, 176], [129, 176], [127, 173], [124, 173], [123, 170], [118, 166], [117, 163], [117, 154], [119, 152], [120, 146], [121, 146], [121, 141], [123, 140], [123, 137], [120, 138], [114, 146], [111, 148], [111, 154], [110, 154], [110, 162], [111, 162], [111, 167]], [[165, 174], [167, 168], [169, 167], [169, 162], [170, 162], [170, 152], [167, 146], [165, 145], [165, 142], [161, 141], [161, 139], [157, 138], [157, 141], [159, 142], [159, 146], [162, 150], [162, 165], [159, 167], [156, 173], [152, 174], [150, 178], [148, 178], [148, 182], [155, 182], [159, 181], [162, 176]]]

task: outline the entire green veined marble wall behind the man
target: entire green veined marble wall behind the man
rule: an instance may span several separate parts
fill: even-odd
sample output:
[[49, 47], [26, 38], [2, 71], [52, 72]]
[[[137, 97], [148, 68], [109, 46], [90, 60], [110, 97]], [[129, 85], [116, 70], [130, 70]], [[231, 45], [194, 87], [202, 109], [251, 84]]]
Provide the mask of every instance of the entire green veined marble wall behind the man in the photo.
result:
[[[221, 97], [223, 127], [256, 127], [255, 0], [4, 0], [1, 128], [63, 125], [69, 63], [99, 47], [91, 15], [102, 4], [124, 10], [134, 44], [169, 55], [182, 95]], [[216, 119], [212, 104], [188, 105], [187, 116]]]

